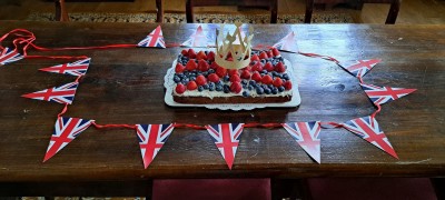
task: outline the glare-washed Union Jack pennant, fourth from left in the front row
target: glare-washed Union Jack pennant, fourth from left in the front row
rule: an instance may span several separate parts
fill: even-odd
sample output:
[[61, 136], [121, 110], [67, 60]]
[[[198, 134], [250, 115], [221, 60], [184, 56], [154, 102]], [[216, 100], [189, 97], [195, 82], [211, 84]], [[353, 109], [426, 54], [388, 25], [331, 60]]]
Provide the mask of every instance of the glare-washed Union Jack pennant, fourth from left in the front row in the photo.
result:
[[283, 123], [287, 132], [315, 161], [320, 163], [319, 121]]

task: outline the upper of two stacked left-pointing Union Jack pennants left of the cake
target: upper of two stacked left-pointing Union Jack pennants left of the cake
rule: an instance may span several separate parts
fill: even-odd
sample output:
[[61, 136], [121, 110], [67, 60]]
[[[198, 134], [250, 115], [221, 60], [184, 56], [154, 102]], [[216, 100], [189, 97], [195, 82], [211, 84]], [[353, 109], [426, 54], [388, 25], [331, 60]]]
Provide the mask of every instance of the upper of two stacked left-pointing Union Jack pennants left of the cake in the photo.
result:
[[85, 76], [87, 73], [88, 67], [90, 66], [90, 58], [78, 60], [71, 63], [63, 63], [59, 66], [48, 67], [39, 69], [40, 71], [47, 71], [52, 73], [63, 73], [63, 74], [71, 74], [71, 76]]

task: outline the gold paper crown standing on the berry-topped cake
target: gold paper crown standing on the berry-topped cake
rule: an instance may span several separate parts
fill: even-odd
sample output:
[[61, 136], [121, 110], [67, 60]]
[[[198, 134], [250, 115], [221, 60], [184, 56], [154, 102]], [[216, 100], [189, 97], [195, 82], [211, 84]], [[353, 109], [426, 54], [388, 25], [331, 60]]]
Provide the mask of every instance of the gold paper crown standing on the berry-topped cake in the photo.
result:
[[251, 52], [251, 38], [254, 38], [253, 28], [249, 29], [249, 36], [241, 34], [241, 23], [236, 23], [233, 34], [224, 33], [224, 24], [216, 30], [216, 57], [215, 62], [227, 69], [241, 69], [249, 64]]

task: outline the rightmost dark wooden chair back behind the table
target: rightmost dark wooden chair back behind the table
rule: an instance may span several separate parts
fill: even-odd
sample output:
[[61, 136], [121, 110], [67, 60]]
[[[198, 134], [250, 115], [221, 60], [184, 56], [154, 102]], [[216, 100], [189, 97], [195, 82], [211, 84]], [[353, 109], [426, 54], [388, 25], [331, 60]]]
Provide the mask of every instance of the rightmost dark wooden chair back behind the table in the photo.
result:
[[[315, 3], [338, 3], [346, 2], [345, 0], [306, 0], [305, 23], [310, 23]], [[358, 3], [390, 3], [386, 24], [394, 24], [397, 19], [398, 10], [400, 9], [402, 0], [358, 0]]]

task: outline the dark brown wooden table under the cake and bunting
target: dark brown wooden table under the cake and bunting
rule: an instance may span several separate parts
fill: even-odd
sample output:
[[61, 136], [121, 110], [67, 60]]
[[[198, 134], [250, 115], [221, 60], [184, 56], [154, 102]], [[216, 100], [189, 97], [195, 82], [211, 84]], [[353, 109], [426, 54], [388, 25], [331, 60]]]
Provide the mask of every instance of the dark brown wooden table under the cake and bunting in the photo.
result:
[[[156, 24], [1, 21], [0, 33], [24, 28], [42, 47], [137, 43]], [[168, 43], [185, 41], [197, 24], [162, 24]], [[398, 153], [392, 158], [345, 129], [322, 130], [322, 164], [315, 163], [284, 129], [245, 129], [233, 170], [204, 130], [176, 129], [148, 169], [136, 133], [89, 128], [42, 163], [62, 104], [21, 98], [73, 81], [38, 71], [65, 60], [26, 59], [0, 70], [0, 193], [70, 196], [149, 194], [151, 179], [445, 176], [445, 26], [265, 24], [254, 26], [254, 44], [273, 44], [290, 30], [304, 52], [338, 60], [380, 58], [364, 81], [416, 88], [383, 106], [380, 128]], [[204, 26], [205, 31], [215, 26]], [[8, 43], [6, 43], [7, 46]], [[170, 108], [164, 76], [181, 48], [78, 50], [30, 54], [92, 58], [66, 117], [98, 123], [195, 123], [337, 121], [375, 111], [357, 79], [332, 62], [283, 53], [297, 70], [299, 108], [219, 111]], [[126, 184], [121, 186], [125, 182]], [[93, 191], [91, 189], [95, 188]], [[88, 193], [90, 192], [90, 193]]]

